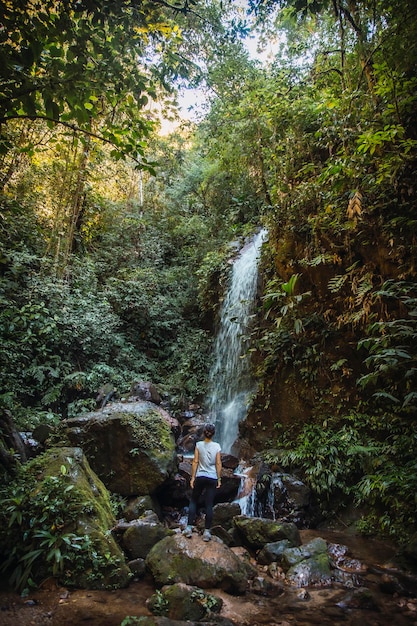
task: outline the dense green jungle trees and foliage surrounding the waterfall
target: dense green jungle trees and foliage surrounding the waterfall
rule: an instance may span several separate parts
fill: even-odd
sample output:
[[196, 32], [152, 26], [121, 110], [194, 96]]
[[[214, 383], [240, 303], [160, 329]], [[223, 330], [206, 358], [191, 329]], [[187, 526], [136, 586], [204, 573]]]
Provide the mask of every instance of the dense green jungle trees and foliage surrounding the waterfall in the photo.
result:
[[[353, 502], [362, 531], [410, 537], [414, 0], [1, 13], [2, 424], [54, 425], [135, 380], [174, 413], [204, 402], [233, 242], [263, 225], [242, 436], [302, 468], [328, 514]], [[247, 51], [250, 25], [274, 43], [267, 62]], [[181, 86], [205, 94], [197, 122], [177, 117]], [[15, 452], [3, 437], [6, 477]]]

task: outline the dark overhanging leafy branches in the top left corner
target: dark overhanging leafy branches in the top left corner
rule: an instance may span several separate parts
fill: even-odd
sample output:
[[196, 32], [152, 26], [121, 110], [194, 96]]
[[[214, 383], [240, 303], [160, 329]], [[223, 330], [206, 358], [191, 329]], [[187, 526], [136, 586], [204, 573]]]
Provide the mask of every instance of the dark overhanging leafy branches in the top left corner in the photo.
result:
[[[0, 119], [64, 123], [103, 136], [120, 155], [129, 153], [147, 167], [135, 145], [152, 129], [145, 108], [162, 96], [180, 41], [161, 5], [116, 2], [103, 11], [99, 2], [6, 2], [3, 26]], [[164, 42], [163, 61], [152, 53], [153, 42]], [[184, 71], [184, 65], [175, 69]], [[117, 133], [118, 127], [125, 132]]]

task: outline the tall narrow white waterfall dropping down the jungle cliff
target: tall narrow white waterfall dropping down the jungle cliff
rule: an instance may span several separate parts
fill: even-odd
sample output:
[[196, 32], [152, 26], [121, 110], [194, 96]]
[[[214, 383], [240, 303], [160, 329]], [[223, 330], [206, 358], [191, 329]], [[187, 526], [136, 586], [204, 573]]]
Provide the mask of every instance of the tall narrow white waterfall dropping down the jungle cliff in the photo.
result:
[[266, 230], [261, 230], [241, 250], [220, 311], [209, 377], [209, 412], [216, 422], [216, 439], [223, 452], [232, 450], [239, 422], [246, 416], [248, 397], [254, 391], [248, 331], [256, 297], [259, 254], [266, 234]]

